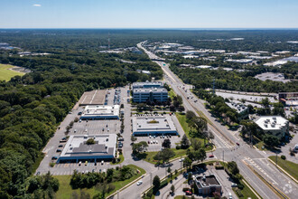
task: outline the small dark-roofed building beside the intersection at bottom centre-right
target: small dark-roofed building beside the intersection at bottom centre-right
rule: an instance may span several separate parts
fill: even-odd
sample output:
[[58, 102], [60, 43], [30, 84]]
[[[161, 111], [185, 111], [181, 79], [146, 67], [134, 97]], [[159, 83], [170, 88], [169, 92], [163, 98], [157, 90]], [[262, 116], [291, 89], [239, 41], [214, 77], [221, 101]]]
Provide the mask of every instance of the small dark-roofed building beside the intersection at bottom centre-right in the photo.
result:
[[199, 194], [221, 193], [221, 185], [215, 175], [193, 175], [193, 180], [198, 187]]

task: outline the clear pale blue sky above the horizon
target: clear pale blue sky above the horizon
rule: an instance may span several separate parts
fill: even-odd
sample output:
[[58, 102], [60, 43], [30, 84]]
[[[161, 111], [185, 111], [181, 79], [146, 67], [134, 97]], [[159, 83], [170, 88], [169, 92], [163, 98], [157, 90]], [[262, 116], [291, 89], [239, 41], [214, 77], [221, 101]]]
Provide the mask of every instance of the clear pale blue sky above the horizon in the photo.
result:
[[0, 28], [298, 28], [298, 0], [0, 0]]

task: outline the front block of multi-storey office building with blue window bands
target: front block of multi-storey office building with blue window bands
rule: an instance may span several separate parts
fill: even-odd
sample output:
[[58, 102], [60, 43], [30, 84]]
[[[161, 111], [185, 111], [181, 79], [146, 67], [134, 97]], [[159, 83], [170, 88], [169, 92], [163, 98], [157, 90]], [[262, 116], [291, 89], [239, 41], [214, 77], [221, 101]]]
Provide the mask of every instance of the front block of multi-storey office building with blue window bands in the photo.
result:
[[133, 91], [134, 102], [140, 103], [147, 100], [150, 101], [167, 101], [168, 100], [168, 90], [164, 88], [143, 88], [135, 89]]

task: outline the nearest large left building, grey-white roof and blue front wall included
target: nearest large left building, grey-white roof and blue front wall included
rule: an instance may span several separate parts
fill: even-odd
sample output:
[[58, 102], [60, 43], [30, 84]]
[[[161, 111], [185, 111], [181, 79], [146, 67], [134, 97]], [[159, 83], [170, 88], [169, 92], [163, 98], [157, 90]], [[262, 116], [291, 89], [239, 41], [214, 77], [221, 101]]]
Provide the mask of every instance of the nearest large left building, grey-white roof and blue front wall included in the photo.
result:
[[[88, 145], [88, 139], [94, 139], [95, 144]], [[116, 156], [116, 135], [78, 135], [70, 136], [61, 152], [57, 163], [100, 161], [113, 159]]]

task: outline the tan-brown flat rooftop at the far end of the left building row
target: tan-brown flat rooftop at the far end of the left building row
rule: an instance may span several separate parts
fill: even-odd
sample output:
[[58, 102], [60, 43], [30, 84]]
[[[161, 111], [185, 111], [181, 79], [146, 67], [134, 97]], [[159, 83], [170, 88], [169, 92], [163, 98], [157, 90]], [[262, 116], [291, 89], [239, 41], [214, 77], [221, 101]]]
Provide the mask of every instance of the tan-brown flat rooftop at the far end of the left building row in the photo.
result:
[[92, 90], [84, 92], [79, 99], [80, 106], [105, 104], [107, 90]]

